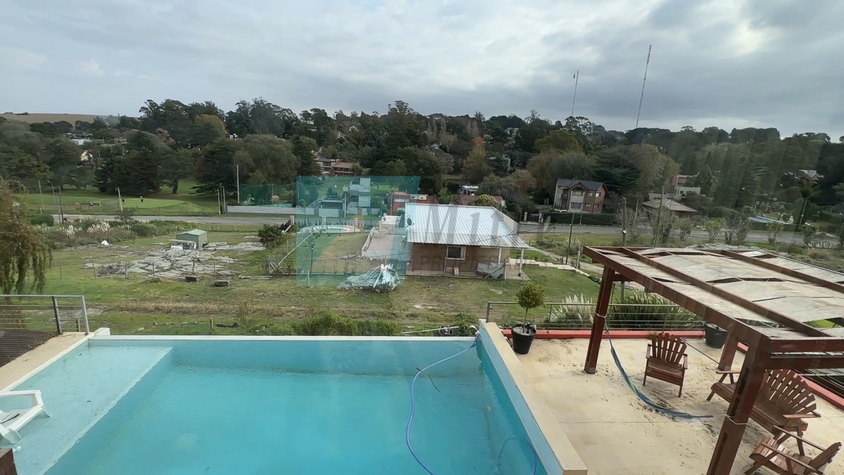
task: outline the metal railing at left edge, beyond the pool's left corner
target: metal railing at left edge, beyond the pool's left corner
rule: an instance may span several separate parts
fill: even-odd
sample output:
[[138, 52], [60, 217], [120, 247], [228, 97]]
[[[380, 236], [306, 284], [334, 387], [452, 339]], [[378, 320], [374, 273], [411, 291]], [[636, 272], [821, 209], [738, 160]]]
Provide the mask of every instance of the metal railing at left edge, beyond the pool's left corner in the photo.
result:
[[84, 295], [0, 294], [0, 331], [90, 332]]

